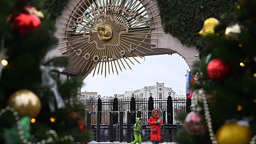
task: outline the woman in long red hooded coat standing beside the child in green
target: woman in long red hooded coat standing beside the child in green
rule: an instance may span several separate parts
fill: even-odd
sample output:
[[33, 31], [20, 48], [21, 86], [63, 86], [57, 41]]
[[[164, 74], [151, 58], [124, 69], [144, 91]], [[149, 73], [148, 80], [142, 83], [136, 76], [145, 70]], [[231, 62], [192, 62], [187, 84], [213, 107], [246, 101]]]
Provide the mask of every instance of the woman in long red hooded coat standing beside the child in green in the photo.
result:
[[[152, 116], [149, 118], [149, 124], [151, 125], [151, 141], [153, 144], [158, 144], [159, 141], [161, 140], [161, 129], [160, 125], [163, 124], [161, 121], [161, 118], [159, 117], [159, 110], [158, 109], [153, 109], [152, 110]], [[157, 132], [152, 132], [152, 129], [156, 128]]]

